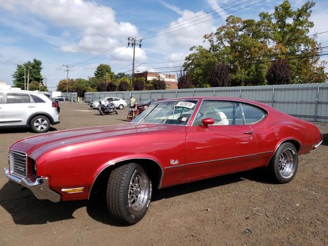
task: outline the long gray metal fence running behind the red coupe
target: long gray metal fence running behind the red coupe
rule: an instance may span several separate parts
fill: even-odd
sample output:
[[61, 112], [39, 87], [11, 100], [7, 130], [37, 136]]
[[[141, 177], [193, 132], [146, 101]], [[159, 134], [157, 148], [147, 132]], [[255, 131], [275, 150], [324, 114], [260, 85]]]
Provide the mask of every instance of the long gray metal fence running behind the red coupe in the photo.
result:
[[212, 87], [180, 90], [157, 91], [115, 91], [115, 92], [87, 92], [85, 101], [89, 103], [101, 97], [115, 96], [129, 102], [130, 95], [143, 103], [148, 99], [176, 98], [190, 96], [228, 96], [251, 99], [268, 104], [282, 112], [296, 117], [328, 122], [328, 83], [248, 86], [248, 87]]

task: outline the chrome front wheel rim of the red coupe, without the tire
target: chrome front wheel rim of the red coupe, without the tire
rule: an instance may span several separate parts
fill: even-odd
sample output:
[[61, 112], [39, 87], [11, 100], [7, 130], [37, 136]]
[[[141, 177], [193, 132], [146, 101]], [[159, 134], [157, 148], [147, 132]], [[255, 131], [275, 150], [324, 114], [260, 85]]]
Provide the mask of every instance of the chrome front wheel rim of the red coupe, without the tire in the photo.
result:
[[149, 189], [145, 173], [138, 172], [132, 176], [128, 194], [129, 204], [134, 211], [138, 212], [146, 206]]

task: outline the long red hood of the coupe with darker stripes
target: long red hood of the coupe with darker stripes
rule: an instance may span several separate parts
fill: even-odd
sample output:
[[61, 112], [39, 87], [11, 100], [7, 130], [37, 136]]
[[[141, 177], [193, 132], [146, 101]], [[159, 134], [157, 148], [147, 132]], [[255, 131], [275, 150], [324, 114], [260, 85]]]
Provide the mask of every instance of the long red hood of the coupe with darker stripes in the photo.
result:
[[57, 131], [21, 139], [15, 142], [15, 144], [10, 147], [10, 150], [25, 152], [29, 156], [37, 158], [52, 149], [80, 142], [140, 133], [147, 134], [154, 131], [171, 131], [177, 127], [179, 126], [130, 123], [124, 125]]

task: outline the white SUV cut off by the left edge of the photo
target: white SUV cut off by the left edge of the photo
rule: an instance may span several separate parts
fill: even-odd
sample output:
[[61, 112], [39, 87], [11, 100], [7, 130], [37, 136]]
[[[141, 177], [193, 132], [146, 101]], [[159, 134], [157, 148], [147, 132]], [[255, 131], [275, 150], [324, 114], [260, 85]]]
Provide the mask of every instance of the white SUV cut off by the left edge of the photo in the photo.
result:
[[58, 103], [44, 94], [31, 91], [0, 90], [0, 128], [30, 127], [32, 131], [47, 132], [58, 124]]

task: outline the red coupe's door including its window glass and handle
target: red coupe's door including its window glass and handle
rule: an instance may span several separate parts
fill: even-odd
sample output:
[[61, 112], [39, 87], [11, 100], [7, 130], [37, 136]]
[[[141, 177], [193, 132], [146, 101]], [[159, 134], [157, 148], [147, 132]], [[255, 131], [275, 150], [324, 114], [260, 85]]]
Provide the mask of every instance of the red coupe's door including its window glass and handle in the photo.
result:
[[[214, 124], [202, 126], [203, 118]], [[203, 100], [192, 126], [187, 129], [185, 181], [249, 169], [254, 164], [256, 139], [244, 124], [240, 104]]]

